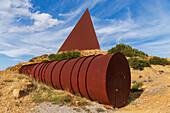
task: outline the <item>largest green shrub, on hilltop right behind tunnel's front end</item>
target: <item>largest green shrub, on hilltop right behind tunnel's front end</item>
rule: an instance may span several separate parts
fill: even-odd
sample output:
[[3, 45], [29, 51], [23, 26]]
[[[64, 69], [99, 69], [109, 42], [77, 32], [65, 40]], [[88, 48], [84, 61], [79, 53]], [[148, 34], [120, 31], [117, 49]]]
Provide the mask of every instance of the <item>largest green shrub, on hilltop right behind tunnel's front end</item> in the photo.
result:
[[147, 57], [148, 56], [148, 54], [142, 51], [139, 51], [137, 49], [133, 49], [131, 46], [126, 45], [126, 44], [117, 44], [116, 47], [113, 47], [110, 50], [108, 50], [108, 54], [116, 53], [116, 52], [121, 52], [125, 56], [128, 56], [128, 57], [134, 57], [134, 56]]

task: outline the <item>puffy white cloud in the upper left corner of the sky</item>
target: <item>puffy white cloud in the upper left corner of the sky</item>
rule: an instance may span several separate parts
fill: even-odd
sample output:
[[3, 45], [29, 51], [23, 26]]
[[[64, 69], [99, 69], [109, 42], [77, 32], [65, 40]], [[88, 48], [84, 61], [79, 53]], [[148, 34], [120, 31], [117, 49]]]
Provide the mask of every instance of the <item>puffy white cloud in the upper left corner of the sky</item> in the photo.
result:
[[[3, 26], [6, 26], [6, 31], [10, 33], [30, 33], [43, 31], [63, 22], [58, 19], [53, 19], [52, 16], [47, 13], [40, 13], [39, 11], [33, 13], [30, 11], [30, 8], [32, 8], [30, 0], [2, 0], [0, 4], [0, 23]], [[30, 19], [30, 21], [33, 21], [33, 25], [17, 25], [22, 17], [26, 17], [27, 19]]]

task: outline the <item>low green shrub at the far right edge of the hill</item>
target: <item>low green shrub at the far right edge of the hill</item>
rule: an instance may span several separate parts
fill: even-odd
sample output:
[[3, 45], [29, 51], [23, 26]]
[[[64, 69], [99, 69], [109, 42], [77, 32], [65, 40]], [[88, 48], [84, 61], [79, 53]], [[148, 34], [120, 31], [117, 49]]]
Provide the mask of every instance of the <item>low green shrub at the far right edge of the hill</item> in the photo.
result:
[[160, 58], [160, 57], [153, 57], [151, 59], [149, 59], [150, 64], [153, 65], [170, 65], [170, 61], [168, 61], [165, 58]]

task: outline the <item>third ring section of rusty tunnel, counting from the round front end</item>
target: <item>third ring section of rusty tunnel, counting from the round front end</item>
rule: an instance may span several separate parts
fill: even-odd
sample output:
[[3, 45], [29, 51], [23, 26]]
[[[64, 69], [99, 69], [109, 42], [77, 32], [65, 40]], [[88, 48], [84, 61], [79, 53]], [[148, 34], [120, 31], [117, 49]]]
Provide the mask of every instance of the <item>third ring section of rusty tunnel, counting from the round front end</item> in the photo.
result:
[[87, 57], [82, 57], [79, 58], [79, 60], [76, 62], [76, 64], [73, 67], [72, 70], [72, 75], [71, 75], [71, 86], [73, 93], [75, 94], [80, 94], [79, 88], [78, 88], [78, 76], [79, 76], [79, 69], [81, 67], [82, 62], [86, 59]]

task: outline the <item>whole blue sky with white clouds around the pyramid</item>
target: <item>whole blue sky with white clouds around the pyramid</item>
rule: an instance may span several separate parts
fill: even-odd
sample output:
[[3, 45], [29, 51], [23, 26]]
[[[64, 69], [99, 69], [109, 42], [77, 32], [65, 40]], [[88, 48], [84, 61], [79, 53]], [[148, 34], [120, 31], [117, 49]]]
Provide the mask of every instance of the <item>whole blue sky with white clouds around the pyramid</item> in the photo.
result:
[[102, 50], [170, 57], [170, 0], [0, 0], [0, 70], [56, 53], [86, 8]]

